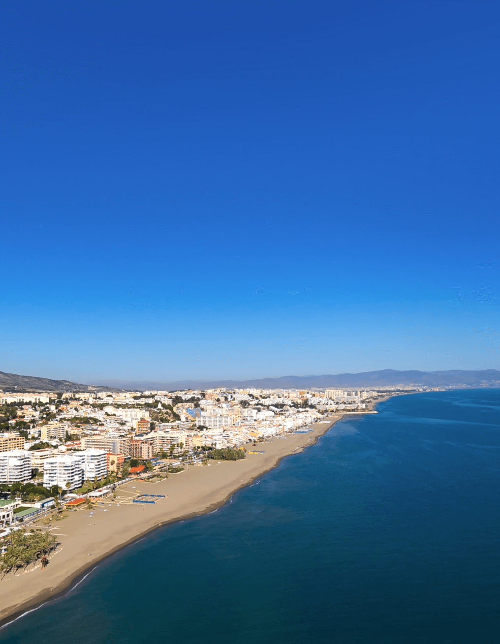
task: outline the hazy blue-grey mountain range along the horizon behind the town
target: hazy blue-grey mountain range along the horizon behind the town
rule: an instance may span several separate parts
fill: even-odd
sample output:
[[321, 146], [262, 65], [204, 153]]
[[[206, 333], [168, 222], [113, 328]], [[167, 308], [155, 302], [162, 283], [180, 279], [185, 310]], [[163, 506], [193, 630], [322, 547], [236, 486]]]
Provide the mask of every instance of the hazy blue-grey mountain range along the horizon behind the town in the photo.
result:
[[485, 369], [482, 371], [396, 371], [383, 369], [368, 371], [361, 374], [337, 375], [284, 375], [280, 378], [262, 378], [255, 380], [220, 380], [195, 381], [184, 380], [170, 383], [157, 381], [120, 381], [107, 380], [93, 383], [97, 386], [114, 386], [131, 390], [181, 390], [181, 389], [215, 389], [216, 387], [231, 388], [270, 388], [270, 389], [311, 389], [325, 387], [363, 387], [374, 388], [389, 386], [425, 385], [428, 387], [466, 386], [484, 387], [500, 386], [500, 371]]

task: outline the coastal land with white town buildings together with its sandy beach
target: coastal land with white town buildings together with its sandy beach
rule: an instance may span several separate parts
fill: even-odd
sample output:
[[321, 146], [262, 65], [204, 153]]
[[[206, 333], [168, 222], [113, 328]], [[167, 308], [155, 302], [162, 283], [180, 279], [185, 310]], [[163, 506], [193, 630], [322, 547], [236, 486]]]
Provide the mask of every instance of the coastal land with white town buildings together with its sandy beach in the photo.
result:
[[1, 392], [0, 621], [419, 390]]

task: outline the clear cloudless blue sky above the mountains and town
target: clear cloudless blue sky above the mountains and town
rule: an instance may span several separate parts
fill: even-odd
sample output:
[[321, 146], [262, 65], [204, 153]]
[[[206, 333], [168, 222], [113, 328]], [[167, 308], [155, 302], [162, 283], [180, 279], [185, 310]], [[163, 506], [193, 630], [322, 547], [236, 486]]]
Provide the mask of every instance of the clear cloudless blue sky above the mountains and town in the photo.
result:
[[0, 370], [500, 368], [499, 18], [3, 5]]

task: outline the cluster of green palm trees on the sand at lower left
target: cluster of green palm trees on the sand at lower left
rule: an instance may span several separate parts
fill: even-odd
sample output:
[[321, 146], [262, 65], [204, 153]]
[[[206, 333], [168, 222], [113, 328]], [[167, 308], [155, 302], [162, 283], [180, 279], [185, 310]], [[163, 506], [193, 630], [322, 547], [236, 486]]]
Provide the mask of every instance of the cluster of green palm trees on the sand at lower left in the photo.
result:
[[1, 579], [10, 571], [17, 572], [30, 564], [41, 562], [42, 568], [48, 564], [47, 555], [57, 548], [57, 536], [48, 532], [26, 533], [23, 528], [15, 530], [0, 542], [2, 554], [0, 554]]

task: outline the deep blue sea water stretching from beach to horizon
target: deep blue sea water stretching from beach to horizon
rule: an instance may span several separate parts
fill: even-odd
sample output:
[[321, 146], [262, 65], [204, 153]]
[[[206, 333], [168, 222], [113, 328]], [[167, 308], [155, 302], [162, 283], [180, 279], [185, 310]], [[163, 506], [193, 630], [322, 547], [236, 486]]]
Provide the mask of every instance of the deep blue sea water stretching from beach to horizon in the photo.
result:
[[378, 409], [115, 554], [0, 640], [500, 641], [500, 390]]

